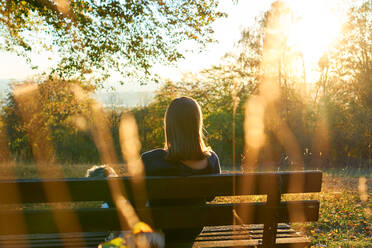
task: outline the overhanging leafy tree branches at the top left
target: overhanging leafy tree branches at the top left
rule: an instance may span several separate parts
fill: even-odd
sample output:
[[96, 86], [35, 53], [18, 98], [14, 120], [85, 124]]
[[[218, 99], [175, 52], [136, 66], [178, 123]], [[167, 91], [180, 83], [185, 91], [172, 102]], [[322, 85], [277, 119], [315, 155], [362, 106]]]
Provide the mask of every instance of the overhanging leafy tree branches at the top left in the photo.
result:
[[[0, 1], [0, 49], [29, 58], [40, 47], [58, 53], [60, 78], [156, 78], [155, 63], [182, 57], [179, 45], [212, 40], [211, 23], [223, 16], [218, 0]], [[40, 50], [40, 49], [39, 49]], [[143, 82], [143, 81], [142, 81]]]

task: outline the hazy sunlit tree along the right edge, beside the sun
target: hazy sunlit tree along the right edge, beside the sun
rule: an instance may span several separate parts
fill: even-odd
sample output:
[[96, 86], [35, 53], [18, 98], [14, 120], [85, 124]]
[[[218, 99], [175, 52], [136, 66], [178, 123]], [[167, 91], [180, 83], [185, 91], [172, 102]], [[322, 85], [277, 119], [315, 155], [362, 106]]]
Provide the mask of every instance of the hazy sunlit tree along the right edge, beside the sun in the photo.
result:
[[[329, 51], [321, 104], [329, 116], [331, 155], [372, 161], [372, 3], [349, 10], [342, 35]], [[325, 89], [325, 87], [327, 87]], [[345, 132], [347, 130], [347, 132]]]

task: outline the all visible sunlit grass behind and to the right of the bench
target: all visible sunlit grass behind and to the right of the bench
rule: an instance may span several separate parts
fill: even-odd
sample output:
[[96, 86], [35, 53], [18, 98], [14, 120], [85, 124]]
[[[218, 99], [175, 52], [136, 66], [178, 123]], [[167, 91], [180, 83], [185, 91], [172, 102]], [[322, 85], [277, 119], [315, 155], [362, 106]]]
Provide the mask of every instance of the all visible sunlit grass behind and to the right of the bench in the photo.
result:
[[[90, 165], [64, 165], [56, 174], [53, 166], [45, 167], [48, 175], [83, 177]], [[116, 170], [122, 171], [120, 166]], [[372, 247], [372, 182], [369, 171], [331, 170], [323, 175], [322, 192], [318, 194], [285, 195], [283, 199], [319, 199], [319, 221], [294, 224], [312, 237], [314, 247]], [[38, 178], [34, 165], [2, 166], [0, 179], [9, 177]], [[363, 179], [364, 178], [364, 179]], [[361, 187], [365, 185], [365, 187]], [[216, 202], [265, 200], [254, 198], [218, 197]]]

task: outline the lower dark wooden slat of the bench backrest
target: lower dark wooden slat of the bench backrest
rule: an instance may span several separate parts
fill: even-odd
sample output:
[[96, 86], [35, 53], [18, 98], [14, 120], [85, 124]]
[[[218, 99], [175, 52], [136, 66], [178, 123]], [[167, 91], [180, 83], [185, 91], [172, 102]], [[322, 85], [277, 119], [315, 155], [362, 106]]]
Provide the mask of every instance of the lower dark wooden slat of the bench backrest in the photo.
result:
[[[239, 203], [239, 204], [207, 204], [200, 206], [157, 207], [138, 209], [139, 217], [150, 222], [149, 211], [152, 212], [153, 221], [157, 228], [193, 228], [200, 226], [217, 226], [232, 224], [233, 209], [243, 209], [252, 213], [252, 218], [246, 224], [264, 223], [267, 208], [265, 203]], [[315, 200], [282, 202], [277, 209], [278, 222], [303, 222], [318, 219], [319, 202]], [[22, 234], [12, 220], [23, 214], [27, 224], [28, 233], [57, 233], [53, 214], [58, 219], [64, 219], [71, 213], [78, 217], [83, 232], [100, 232], [107, 230], [120, 230], [120, 223], [116, 209], [54, 209], [51, 210], [2, 210], [0, 211], [0, 234]], [[238, 212], [238, 214], [240, 214]], [[127, 227], [124, 227], [127, 229]], [[79, 232], [79, 227], [69, 226], [65, 232]]]

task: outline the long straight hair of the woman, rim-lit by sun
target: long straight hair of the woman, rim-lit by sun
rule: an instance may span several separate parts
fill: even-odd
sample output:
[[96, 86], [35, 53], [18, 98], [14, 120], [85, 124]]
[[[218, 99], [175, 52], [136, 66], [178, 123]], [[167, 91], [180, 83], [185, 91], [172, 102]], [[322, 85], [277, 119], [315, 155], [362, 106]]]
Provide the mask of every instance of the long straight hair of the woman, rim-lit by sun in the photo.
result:
[[203, 115], [196, 100], [174, 99], [164, 116], [166, 159], [172, 161], [202, 160], [210, 156], [204, 143]]

